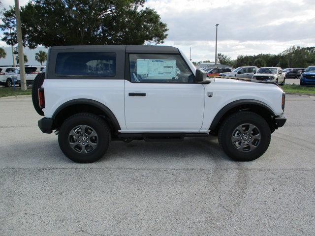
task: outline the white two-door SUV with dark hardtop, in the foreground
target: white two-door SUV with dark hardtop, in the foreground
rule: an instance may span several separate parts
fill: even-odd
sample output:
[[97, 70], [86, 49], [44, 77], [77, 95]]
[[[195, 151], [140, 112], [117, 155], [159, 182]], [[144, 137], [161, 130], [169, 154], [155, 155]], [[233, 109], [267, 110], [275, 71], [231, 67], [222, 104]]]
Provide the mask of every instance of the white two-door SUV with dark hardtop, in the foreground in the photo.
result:
[[[218, 134], [231, 158], [250, 161], [282, 127], [283, 90], [268, 83], [207, 79], [169, 46], [59, 46], [32, 87], [44, 133], [58, 134], [76, 162], [101, 158], [110, 141], [180, 141]], [[197, 148], [197, 147], [196, 147]]]

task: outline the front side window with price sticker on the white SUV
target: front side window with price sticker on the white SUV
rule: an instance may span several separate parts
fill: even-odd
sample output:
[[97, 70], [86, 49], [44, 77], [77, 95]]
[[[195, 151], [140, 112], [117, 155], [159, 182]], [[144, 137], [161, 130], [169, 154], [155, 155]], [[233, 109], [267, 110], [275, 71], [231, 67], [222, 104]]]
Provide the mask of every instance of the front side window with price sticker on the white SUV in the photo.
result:
[[180, 55], [130, 54], [133, 83], [192, 83], [194, 75]]

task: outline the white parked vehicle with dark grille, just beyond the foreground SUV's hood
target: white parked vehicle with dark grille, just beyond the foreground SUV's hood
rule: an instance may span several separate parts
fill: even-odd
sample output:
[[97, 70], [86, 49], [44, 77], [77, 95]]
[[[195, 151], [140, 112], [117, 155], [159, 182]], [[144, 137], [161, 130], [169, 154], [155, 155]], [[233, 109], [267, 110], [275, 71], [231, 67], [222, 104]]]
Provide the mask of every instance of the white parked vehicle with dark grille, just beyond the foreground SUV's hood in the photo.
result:
[[277, 84], [284, 84], [285, 77], [280, 67], [261, 67], [257, 74], [252, 76], [252, 82], [273, 81]]

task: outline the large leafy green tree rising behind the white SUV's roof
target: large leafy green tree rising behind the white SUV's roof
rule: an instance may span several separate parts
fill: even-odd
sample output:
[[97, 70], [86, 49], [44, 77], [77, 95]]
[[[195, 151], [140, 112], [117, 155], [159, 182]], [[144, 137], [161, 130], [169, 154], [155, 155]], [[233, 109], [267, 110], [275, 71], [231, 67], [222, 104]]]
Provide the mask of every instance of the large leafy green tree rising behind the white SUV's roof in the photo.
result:
[[[23, 43], [38, 45], [159, 44], [167, 37], [158, 13], [145, 0], [33, 0], [21, 7]], [[2, 41], [11, 27], [16, 44], [14, 8], [2, 13]]]

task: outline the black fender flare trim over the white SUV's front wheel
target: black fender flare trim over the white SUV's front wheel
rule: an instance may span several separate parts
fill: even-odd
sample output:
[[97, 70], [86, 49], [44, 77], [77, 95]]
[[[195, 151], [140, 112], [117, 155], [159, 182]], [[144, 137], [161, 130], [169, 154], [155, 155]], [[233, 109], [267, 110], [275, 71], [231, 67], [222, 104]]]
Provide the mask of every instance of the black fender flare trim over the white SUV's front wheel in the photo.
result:
[[212, 123], [210, 125], [209, 130], [213, 130], [213, 129], [215, 129], [217, 127], [220, 119], [224, 116], [225, 113], [227, 113], [229, 110], [231, 110], [231, 109], [233, 109], [235, 107], [241, 106], [241, 105], [256, 105], [256, 106], [259, 106], [261, 108], [267, 109], [270, 112], [270, 114], [272, 114], [272, 116], [276, 116], [276, 114], [271, 109], [271, 107], [269, 107], [264, 102], [261, 102], [261, 101], [258, 101], [258, 100], [254, 100], [254, 99], [236, 100], [236, 101], [228, 103], [223, 108], [221, 108], [221, 110], [217, 113], [215, 118], [212, 120]]

